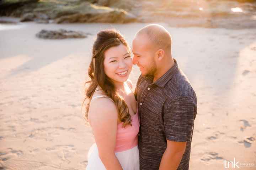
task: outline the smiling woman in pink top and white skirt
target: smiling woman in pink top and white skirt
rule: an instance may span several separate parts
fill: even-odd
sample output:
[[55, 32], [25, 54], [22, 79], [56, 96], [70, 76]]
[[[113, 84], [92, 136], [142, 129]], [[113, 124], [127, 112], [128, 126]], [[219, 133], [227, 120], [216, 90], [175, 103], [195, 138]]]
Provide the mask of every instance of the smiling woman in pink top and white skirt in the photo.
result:
[[86, 170], [139, 170], [138, 106], [128, 80], [130, 48], [116, 30], [98, 32], [92, 48], [85, 117], [95, 142]]

